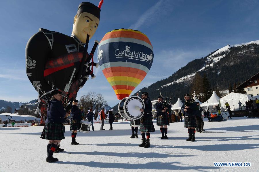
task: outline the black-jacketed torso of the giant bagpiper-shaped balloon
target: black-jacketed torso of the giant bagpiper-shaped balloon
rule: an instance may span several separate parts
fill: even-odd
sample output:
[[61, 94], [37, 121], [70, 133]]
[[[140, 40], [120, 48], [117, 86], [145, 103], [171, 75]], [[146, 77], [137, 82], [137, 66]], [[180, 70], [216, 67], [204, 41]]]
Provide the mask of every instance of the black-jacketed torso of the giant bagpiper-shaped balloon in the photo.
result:
[[79, 88], [73, 79], [79, 71], [83, 50], [84, 44], [75, 36], [40, 28], [26, 45], [26, 73], [33, 87], [37, 90], [38, 84], [47, 93], [54, 84], [54, 89], [64, 96], [70, 93], [70, 99], [75, 99]]

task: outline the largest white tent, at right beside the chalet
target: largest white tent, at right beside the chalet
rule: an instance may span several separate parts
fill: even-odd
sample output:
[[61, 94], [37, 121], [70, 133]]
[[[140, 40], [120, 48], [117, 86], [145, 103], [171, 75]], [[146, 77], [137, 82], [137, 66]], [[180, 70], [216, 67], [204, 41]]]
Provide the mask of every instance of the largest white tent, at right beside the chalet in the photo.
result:
[[245, 101], [249, 101], [250, 99], [252, 99], [250, 95], [231, 92], [226, 96], [220, 98], [220, 105], [224, 107], [225, 103], [228, 102], [231, 111], [234, 111], [239, 110], [239, 101], [242, 103], [242, 106], [245, 106]]

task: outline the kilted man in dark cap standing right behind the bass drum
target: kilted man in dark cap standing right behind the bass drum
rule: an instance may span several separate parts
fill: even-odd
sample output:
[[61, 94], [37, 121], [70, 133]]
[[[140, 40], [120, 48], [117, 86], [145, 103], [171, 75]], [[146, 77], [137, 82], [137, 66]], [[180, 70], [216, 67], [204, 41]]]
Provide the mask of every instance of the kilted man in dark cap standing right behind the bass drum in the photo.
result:
[[[142, 92], [142, 100], [145, 104], [145, 109], [140, 109], [141, 112], [144, 112], [144, 115], [140, 118], [140, 127], [139, 131], [141, 132], [142, 136], [142, 143], [138, 146], [149, 148], [149, 137], [150, 132], [155, 132], [154, 124], [152, 121], [152, 103], [148, 97], [147, 92]], [[146, 132], [146, 138], [145, 138], [145, 132]]]

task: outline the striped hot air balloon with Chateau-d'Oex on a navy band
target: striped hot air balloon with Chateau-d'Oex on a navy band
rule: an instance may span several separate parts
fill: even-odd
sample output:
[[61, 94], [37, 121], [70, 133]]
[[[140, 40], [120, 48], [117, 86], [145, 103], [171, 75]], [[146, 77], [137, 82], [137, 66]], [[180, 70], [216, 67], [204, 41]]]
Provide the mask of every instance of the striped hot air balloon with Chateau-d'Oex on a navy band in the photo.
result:
[[115, 29], [104, 35], [98, 47], [102, 72], [117, 98], [128, 97], [153, 63], [153, 47], [138, 30]]

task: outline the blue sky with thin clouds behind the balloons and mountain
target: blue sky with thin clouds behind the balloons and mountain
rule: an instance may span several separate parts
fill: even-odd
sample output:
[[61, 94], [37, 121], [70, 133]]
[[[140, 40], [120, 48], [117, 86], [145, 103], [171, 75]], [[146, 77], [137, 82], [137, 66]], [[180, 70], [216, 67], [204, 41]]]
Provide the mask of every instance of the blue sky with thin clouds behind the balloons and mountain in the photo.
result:
[[[28, 39], [46, 28], [71, 35], [82, 1], [2, 1], [0, 6], [0, 99], [28, 102], [37, 98], [25, 71]], [[99, 0], [89, 1], [98, 5]], [[140, 30], [154, 48], [151, 70], [137, 90], [167, 78], [189, 61], [205, 57], [227, 44], [259, 40], [259, 1], [104, 0], [94, 40], [119, 28]], [[94, 61], [97, 61], [95, 53]], [[77, 98], [89, 91], [102, 93], [113, 107], [119, 100], [102, 74], [88, 80]], [[144, 90], [142, 90], [144, 91]]]

